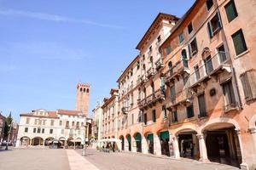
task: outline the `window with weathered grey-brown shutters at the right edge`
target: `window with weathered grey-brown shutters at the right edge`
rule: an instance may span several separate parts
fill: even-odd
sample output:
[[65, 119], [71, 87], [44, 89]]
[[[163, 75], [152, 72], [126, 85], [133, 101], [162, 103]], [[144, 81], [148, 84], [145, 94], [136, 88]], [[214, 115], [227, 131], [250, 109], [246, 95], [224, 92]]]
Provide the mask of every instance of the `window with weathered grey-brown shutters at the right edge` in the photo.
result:
[[246, 101], [256, 99], [256, 72], [246, 71], [240, 77]]

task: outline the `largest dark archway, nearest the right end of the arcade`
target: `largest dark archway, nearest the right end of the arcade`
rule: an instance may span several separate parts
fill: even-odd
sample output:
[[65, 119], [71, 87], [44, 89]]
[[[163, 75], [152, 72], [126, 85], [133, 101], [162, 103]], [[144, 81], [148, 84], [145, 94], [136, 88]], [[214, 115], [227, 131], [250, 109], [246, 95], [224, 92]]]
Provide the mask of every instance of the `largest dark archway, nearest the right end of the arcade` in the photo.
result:
[[215, 122], [203, 129], [210, 161], [240, 167], [241, 149], [235, 129], [230, 122]]

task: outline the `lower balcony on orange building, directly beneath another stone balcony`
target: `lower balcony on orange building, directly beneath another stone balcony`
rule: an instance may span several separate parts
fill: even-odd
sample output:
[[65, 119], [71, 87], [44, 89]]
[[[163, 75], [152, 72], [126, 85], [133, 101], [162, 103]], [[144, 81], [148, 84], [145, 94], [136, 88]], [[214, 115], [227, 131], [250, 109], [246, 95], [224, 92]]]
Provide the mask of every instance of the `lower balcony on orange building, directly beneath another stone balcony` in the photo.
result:
[[166, 108], [172, 109], [177, 105], [186, 105], [192, 103], [193, 92], [190, 89], [183, 89], [178, 92], [173, 98], [170, 98], [170, 102], [167, 103]]

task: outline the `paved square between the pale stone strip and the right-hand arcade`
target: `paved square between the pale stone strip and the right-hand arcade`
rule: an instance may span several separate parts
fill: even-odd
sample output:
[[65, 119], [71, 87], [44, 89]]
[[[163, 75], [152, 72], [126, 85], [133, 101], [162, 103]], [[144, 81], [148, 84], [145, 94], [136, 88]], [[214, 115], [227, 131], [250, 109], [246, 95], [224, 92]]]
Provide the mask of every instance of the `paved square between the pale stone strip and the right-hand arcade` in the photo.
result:
[[[82, 150], [77, 150], [81, 154]], [[88, 149], [87, 161], [100, 170], [237, 170], [217, 163], [201, 163], [200, 161], [176, 161], [168, 158], [143, 156], [133, 153], [102, 153]]]

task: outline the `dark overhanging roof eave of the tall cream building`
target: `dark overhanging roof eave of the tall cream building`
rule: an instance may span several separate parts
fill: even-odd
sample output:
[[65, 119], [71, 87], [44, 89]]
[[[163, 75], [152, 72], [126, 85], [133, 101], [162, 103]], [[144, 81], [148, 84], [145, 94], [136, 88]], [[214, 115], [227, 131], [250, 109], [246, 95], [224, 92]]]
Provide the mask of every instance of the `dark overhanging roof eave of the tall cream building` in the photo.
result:
[[179, 20], [179, 18], [177, 18], [177, 16], [172, 15], [172, 14], [164, 14], [164, 13], [159, 13], [156, 18], [154, 19], [153, 23], [151, 24], [151, 26], [149, 26], [148, 30], [146, 31], [146, 33], [144, 34], [143, 38], [141, 39], [141, 41], [137, 44], [137, 49], [140, 49], [143, 45], [143, 42], [146, 41], [146, 37], [148, 37], [148, 35], [151, 34], [151, 32], [154, 30], [155, 26], [158, 26], [159, 22], [161, 20], [163, 20], [164, 18], [168, 19], [168, 20]]

